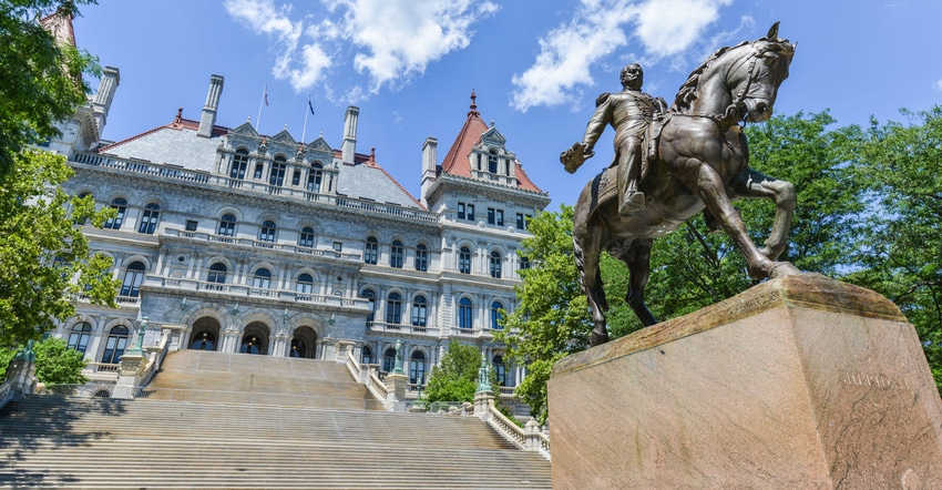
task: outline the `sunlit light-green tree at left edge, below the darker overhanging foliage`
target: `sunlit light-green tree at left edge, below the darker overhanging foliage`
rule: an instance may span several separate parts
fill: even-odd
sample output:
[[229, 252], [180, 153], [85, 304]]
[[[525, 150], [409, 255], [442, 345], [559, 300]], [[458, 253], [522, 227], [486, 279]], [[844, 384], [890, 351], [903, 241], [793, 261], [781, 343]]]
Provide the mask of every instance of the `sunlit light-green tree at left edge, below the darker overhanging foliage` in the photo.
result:
[[113, 210], [66, 195], [60, 184], [71, 175], [63, 156], [24, 150], [0, 186], [0, 346], [38, 339], [52, 318], [74, 315], [74, 295], [116, 307], [111, 257], [90, 255], [74, 224], [102, 226]]

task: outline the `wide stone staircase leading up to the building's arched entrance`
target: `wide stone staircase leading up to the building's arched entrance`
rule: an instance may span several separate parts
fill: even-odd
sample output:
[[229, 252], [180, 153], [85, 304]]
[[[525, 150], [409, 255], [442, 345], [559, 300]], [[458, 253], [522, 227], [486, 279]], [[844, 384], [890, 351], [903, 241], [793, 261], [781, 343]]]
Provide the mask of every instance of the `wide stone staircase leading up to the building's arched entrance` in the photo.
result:
[[[183, 355], [183, 356], [178, 356]], [[361, 408], [276, 404], [278, 389], [331, 388], [306, 401], [352, 400], [332, 363], [260, 360], [246, 371], [238, 355], [175, 353], [153, 392], [195, 394], [194, 367], [219, 372], [216, 392], [265, 388], [270, 402], [113, 400], [29, 396], [0, 409], [0, 487], [54, 488], [306, 488], [531, 489], [552, 487], [550, 463], [515, 449], [473, 417], [393, 414]], [[249, 357], [249, 356], [244, 356]], [[262, 356], [252, 356], [264, 359]], [[188, 372], [185, 363], [191, 363]], [[192, 363], [196, 363], [193, 365]], [[310, 364], [314, 363], [314, 364]], [[256, 367], [258, 367], [256, 366]], [[295, 369], [275, 381], [263, 374]], [[268, 370], [265, 370], [268, 369]], [[322, 369], [324, 375], [314, 375]], [[255, 375], [252, 381], [236, 372]], [[331, 374], [332, 372], [332, 374]], [[350, 375], [342, 372], [348, 379]], [[237, 379], [232, 379], [237, 378]], [[176, 380], [174, 380], [176, 379]], [[194, 382], [182, 388], [183, 382]], [[351, 382], [351, 381], [349, 381]], [[285, 385], [283, 385], [285, 384]], [[296, 385], [297, 384], [297, 385]], [[356, 384], [355, 384], [356, 385]], [[278, 387], [281, 388], [278, 388]], [[205, 388], [205, 387], [204, 387]], [[188, 391], [186, 391], [188, 390]], [[258, 395], [262, 398], [265, 392]], [[367, 400], [369, 395], [360, 399]]]

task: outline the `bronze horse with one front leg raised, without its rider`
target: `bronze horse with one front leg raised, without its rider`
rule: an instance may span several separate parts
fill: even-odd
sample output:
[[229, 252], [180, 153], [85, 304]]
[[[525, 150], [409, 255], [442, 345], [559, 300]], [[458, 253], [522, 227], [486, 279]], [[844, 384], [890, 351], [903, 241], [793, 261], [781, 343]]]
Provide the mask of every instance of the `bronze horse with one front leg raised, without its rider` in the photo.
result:
[[[601, 252], [607, 251], [628, 266], [625, 300], [645, 326], [657, 323], [644, 302], [651, 273], [651, 247], [655, 238], [677, 229], [704, 211], [734, 241], [756, 279], [798, 274], [787, 262], [776, 262], [785, 251], [795, 187], [749, 169], [749, 149], [739, 125], [744, 120], [769, 119], [778, 86], [788, 78], [795, 45], [779, 40], [778, 23], [765, 38], [723, 48], [697, 68], [666, 114], [648, 127], [649, 171], [639, 185], [647, 204], [627, 218], [620, 218], [614, 170], [595, 176], [575, 205], [573, 244], [583, 290], [592, 308], [595, 328], [592, 346], [608, 340], [604, 313], [608, 305], [598, 268]], [[574, 146], [574, 150], [578, 150]], [[564, 152], [567, 169], [578, 166], [592, 154]], [[776, 217], [766, 246], [749, 238], [733, 201], [768, 198], [776, 203]]]

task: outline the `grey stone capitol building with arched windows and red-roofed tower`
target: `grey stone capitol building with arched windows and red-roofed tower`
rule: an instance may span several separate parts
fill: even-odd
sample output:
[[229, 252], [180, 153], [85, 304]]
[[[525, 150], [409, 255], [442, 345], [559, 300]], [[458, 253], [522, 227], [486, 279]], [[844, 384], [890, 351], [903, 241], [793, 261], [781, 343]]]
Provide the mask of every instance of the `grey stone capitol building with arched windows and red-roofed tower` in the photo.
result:
[[[93, 253], [114, 261], [120, 307], [79, 297], [76, 315], [54, 330], [85, 354], [88, 376], [114, 379], [143, 324], [145, 347], [171, 328], [173, 349], [352, 354], [380, 372], [391, 370], [398, 341], [413, 388], [458, 340], [478, 347], [512, 391], [523, 368], [493, 331], [516, 307], [529, 267], [520, 254], [528, 218], [550, 197], [484, 123], [473, 91], [450, 145], [416, 142], [416, 175], [393, 176], [358, 149], [358, 108], [337, 122], [342, 141], [297, 141], [249, 122], [219, 125], [225, 80], [208, 82], [195, 116], [181, 109], [165, 125], [106, 142], [120, 72], [105, 68], [89, 104], [48, 142], [75, 172], [65, 191], [117, 212], [82, 231]], [[399, 182], [414, 177], [418, 197]]]

